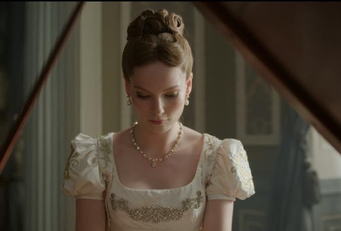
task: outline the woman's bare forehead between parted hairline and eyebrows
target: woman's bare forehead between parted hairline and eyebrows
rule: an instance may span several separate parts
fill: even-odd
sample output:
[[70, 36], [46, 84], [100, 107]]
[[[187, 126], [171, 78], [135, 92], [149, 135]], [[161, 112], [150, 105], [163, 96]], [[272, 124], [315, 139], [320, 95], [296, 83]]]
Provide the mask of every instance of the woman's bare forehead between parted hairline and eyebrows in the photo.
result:
[[148, 88], [182, 85], [185, 82], [186, 73], [181, 70], [181, 67], [171, 67], [160, 61], [135, 67], [130, 77], [130, 83], [133, 85]]

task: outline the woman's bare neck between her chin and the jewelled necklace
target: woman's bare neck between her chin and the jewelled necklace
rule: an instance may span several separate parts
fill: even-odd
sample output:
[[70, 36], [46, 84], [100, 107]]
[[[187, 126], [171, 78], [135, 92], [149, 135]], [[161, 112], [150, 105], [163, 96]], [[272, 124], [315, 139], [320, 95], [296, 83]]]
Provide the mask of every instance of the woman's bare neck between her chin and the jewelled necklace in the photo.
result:
[[180, 125], [175, 123], [164, 133], [153, 133], [137, 124], [134, 136], [139, 147], [152, 158], [160, 158], [169, 152], [179, 137]]

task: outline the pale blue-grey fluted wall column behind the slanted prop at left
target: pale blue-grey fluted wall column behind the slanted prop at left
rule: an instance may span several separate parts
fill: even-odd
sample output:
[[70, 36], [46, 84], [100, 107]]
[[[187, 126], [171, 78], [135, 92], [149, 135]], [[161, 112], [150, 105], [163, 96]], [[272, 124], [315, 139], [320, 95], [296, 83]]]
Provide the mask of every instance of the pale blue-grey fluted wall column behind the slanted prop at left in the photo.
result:
[[[25, 3], [25, 99], [74, 6], [68, 2]], [[79, 23], [23, 132], [25, 191], [19, 195], [25, 208], [21, 209], [25, 211], [24, 230], [66, 230], [75, 219], [72, 200], [62, 196], [61, 186], [70, 140], [80, 130], [77, 44]]]

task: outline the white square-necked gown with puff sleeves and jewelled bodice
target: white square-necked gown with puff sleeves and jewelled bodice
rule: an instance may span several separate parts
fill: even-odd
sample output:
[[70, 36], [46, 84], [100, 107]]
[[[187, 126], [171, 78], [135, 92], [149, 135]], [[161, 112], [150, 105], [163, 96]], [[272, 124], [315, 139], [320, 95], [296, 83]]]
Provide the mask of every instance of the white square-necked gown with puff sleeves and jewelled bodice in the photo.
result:
[[78, 134], [64, 172], [63, 192], [76, 199], [104, 200], [108, 231], [198, 231], [207, 200], [244, 200], [255, 193], [240, 141], [204, 134], [193, 180], [172, 189], [132, 189], [119, 181], [113, 134]]

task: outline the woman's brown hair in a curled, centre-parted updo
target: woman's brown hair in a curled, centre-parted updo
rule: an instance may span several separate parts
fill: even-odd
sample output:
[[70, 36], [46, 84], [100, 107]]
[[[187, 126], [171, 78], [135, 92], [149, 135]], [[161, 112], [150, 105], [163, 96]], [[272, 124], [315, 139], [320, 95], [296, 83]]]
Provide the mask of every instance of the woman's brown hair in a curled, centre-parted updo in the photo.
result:
[[180, 15], [166, 9], [145, 10], [127, 29], [127, 43], [122, 54], [123, 76], [126, 80], [134, 67], [155, 61], [169, 66], [179, 66], [189, 78], [193, 56], [189, 42], [184, 37], [184, 22]]

